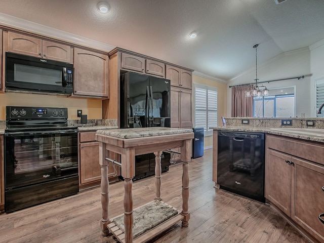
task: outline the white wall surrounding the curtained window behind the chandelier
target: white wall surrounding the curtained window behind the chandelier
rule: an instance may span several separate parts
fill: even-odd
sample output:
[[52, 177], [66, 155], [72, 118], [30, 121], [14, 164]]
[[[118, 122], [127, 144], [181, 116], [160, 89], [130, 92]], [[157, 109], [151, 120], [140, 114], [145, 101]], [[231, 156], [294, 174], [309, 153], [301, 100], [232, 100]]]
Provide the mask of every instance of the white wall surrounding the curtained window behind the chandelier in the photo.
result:
[[[301, 117], [301, 113], [305, 113], [305, 117], [313, 116], [313, 105], [310, 99], [311, 87], [311, 69], [310, 69], [310, 50], [302, 48], [291, 52], [282, 53], [266, 63], [258, 63], [258, 78], [260, 83], [265, 80], [273, 80], [280, 78], [288, 78], [295, 76], [307, 75], [301, 79], [282, 80], [272, 83], [263, 83], [268, 89], [278, 87], [295, 87], [295, 114]], [[247, 70], [245, 73], [229, 80], [228, 85], [238, 85], [253, 83], [255, 79], [255, 67]], [[232, 89], [227, 86], [227, 116], [231, 115], [231, 98]]]

